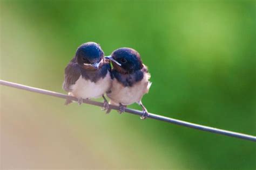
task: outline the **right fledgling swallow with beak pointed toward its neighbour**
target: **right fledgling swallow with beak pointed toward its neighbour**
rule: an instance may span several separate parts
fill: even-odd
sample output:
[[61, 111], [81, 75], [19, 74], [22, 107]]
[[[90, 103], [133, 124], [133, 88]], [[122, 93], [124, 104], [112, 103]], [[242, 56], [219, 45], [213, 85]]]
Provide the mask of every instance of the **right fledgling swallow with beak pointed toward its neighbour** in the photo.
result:
[[142, 104], [142, 97], [149, 92], [151, 82], [147, 67], [142, 63], [140, 54], [132, 48], [119, 48], [113, 51], [106, 59], [112, 61], [112, 86], [107, 91], [110, 104], [119, 105], [119, 112], [124, 112], [126, 105], [138, 103], [143, 109], [145, 119], [149, 116]]

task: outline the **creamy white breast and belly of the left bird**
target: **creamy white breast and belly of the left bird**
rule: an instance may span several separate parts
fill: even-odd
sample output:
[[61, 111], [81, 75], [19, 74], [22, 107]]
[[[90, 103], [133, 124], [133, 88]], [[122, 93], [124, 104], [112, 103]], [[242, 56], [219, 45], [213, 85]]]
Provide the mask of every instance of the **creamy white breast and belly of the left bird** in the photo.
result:
[[98, 98], [101, 97], [111, 86], [111, 76], [107, 72], [104, 78], [99, 79], [96, 83], [90, 80], [85, 80], [82, 76], [71, 87], [70, 95], [78, 98]]

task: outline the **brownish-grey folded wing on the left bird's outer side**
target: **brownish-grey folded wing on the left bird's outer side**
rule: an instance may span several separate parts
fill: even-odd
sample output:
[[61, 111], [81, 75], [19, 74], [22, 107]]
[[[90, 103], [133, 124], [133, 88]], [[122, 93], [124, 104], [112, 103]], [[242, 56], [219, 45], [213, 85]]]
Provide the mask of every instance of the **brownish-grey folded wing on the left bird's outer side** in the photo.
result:
[[76, 81], [79, 79], [81, 75], [80, 68], [74, 60], [71, 60], [65, 68], [65, 80], [63, 82], [62, 88], [65, 91], [70, 92], [71, 86], [76, 83]]

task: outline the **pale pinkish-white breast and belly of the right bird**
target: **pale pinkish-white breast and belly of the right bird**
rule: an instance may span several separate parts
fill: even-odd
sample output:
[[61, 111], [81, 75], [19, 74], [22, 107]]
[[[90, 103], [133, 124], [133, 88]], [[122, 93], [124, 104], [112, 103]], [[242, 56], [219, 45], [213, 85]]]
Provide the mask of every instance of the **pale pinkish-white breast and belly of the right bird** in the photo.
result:
[[111, 93], [107, 96], [111, 99], [111, 104], [130, 105], [139, 102], [143, 95], [149, 92], [151, 82], [149, 82], [150, 74], [145, 73], [141, 81], [133, 84], [132, 87], [124, 87], [122, 83], [114, 79], [112, 82]]

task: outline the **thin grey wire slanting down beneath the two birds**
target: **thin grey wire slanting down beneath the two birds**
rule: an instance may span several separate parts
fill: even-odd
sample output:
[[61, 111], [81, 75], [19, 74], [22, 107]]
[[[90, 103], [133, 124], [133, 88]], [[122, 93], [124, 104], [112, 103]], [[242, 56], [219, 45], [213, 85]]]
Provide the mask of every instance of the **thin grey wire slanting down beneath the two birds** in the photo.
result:
[[[56, 93], [54, 91], [49, 91], [49, 90], [39, 89], [39, 88], [35, 88], [35, 87], [24, 86], [22, 84], [12, 83], [12, 82], [3, 81], [3, 80], [0, 80], [0, 84], [3, 85], [3, 86], [9, 86], [9, 87], [17, 88], [17, 89], [32, 91], [32, 92], [35, 92], [35, 93], [40, 93], [40, 94], [59, 97], [59, 98], [69, 98], [70, 100], [77, 101], [76, 97], [64, 95], [64, 94], [61, 94], [61, 93]], [[101, 102], [96, 102], [96, 101], [91, 101], [91, 100], [84, 99], [83, 103], [103, 107], [103, 103], [101, 103]], [[118, 110], [119, 108], [115, 105], [110, 105], [110, 109]], [[142, 111], [133, 110], [133, 109], [129, 109], [129, 108], [125, 108], [125, 112], [130, 113], [130, 114], [134, 114], [134, 115], [139, 115], [139, 116], [143, 115]], [[209, 126], [203, 126], [203, 125], [198, 125], [198, 124], [194, 124], [194, 123], [190, 123], [190, 122], [180, 121], [178, 119], [173, 119], [173, 118], [160, 116], [160, 115], [156, 115], [156, 114], [149, 114], [148, 118], [157, 119], [158, 121], [169, 122], [169, 123], [177, 124], [177, 125], [181, 125], [181, 126], [186, 126], [188, 128], [198, 129], [198, 130], [201, 130], [201, 131], [207, 131], [207, 132], [211, 132], [211, 133], [223, 134], [225, 136], [256, 141], [256, 137], [252, 136], [252, 135], [249, 135], [249, 134], [243, 134], [243, 133], [237, 133], [237, 132], [232, 132], [232, 131], [227, 131], [227, 130], [222, 130], [222, 129], [217, 129], [217, 128], [211, 128]]]

